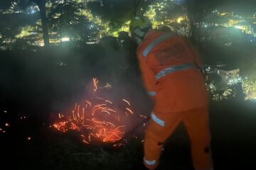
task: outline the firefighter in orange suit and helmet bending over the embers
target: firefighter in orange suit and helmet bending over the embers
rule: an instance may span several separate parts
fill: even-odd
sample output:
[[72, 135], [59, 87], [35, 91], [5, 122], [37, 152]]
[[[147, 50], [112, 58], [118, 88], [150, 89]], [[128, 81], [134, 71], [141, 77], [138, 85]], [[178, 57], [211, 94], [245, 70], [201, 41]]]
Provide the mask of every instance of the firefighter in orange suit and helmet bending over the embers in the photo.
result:
[[208, 99], [196, 51], [166, 27], [153, 30], [144, 16], [131, 21], [130, 31], [139, 44], [137, 58], [144, 86], [154, 98], [144, 140], [144, 165], [156, 169], [164, 142], [183, 123], [191, 140], [194, 169], [212, 170]]

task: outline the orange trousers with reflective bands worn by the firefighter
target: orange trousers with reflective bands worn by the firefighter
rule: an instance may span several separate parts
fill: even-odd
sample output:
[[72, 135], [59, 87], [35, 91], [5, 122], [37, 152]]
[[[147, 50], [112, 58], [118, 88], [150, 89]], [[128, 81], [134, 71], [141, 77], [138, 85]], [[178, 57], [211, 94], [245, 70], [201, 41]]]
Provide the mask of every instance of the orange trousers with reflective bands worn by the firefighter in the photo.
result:
[[208, 108], [175, 113], [152, 113], [144, 140], [144, 165], [156, 169], [164, 142], [183, 123], [191, 140], [191, 155], [196, 170], [211, 170]]

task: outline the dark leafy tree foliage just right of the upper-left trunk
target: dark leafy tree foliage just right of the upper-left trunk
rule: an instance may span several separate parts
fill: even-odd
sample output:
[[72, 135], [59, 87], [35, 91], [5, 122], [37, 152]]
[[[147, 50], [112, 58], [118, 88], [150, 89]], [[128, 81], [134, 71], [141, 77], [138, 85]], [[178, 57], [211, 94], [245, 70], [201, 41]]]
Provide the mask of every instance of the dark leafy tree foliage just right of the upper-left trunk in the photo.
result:
[[48, 13], [49, 28], [57, 33], [57, 38], [63, 36], [74, 40], [87, 40], [89, 32], [95, 28], [85, 16], [80, 15], [80, 9], [85, 8], [84, 4], [67, 0], [65, 3], [53, 1]]

